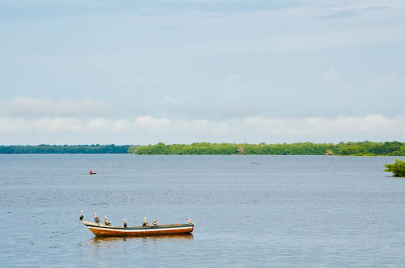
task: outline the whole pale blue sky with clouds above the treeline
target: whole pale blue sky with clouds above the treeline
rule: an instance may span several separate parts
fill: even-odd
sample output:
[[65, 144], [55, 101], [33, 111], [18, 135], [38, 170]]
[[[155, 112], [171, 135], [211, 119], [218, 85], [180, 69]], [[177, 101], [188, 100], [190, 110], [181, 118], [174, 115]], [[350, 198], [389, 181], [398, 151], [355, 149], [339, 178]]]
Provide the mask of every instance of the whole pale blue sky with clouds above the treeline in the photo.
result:
[[405, 141], [403, 0], [0, 0], [0, 145]]

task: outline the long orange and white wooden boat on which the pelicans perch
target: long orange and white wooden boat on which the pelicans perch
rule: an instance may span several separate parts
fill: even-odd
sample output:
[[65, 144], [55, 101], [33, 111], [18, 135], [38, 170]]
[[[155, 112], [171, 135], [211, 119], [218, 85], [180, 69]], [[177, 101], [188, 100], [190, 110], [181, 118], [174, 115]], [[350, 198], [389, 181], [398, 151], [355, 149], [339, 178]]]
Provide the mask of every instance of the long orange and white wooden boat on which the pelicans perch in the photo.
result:
[[147, 227], [119, 227], [82, 221], [96, 237], [123, 237], [123, 236], [161, 236], [189, 234], [193, 232], [194, 224], [168, 224]]

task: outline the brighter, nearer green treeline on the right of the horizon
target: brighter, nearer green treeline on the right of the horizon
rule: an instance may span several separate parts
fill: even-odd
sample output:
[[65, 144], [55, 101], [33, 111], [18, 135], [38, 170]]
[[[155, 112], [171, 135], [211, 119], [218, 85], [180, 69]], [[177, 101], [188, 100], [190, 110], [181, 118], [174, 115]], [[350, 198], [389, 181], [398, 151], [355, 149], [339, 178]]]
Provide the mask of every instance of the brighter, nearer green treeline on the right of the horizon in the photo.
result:
[[[131, 151], [130, 151], [131, 150]], [[405, 143], [340, 142], [333, 143], [192, 143], [155, 145], [130, 148], [137, 155], [341, 155], [341, 156], [405, 156]]]

